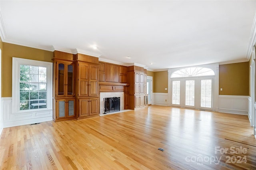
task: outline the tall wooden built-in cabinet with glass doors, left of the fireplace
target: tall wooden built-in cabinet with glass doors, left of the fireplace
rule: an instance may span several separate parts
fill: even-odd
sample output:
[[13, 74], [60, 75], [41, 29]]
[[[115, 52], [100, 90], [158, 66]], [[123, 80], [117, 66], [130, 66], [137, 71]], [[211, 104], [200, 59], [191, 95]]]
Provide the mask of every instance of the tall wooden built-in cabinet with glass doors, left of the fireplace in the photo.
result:
[[53, 120], [99, 114], [98, 58], [54, 51]]

